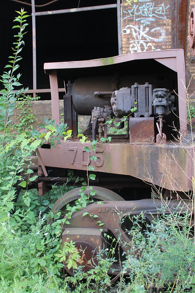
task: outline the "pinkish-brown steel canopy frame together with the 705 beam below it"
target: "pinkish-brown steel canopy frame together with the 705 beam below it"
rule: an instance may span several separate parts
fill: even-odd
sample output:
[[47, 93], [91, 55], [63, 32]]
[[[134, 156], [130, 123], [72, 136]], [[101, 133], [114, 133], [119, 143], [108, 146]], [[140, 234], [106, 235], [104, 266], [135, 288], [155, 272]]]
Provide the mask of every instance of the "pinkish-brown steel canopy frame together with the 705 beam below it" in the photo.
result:
[[[97, 60], [45, 63], [44, 70], [50, 75], [51, 82], [52, 119], [55, 119], [57, 123], [60, 121], [57, 89], [58, 70], [64, 69], [66, 74], [73, 68], [75, 71], [78, 68], [86, 67], [101, 67], [104, 70], [102, 68], [104, 66], [150, 59], [154, 59], [177, 72], [180, 131], [183, 134], [187, 133], [185, 65], [182, 49], [139, 52]], [[186, 150], [183, 150], [179, 144], [161, 145], [153, 141], [151, 144], [142, 142], [140, 144], [98, 143], [97, 149], [94, 151], [94, 155], [97, 157], [95, 162], [87, 160], [87, 153], [84, 151], [86, 146], [90, 147], [90, 144], [83, 145], [79, 141], [69, 140], [66, 143], [62, 141], [60, 146], [55, 149], [40, 148], [39, 151], [46, 167], [85, 171], [88, 168], [87, 165], [92, 165], [95, 172], [128, 175], [148, 183], [154, 183], [157, 186], [162, 186], [163, 175], [163, 187], [168, 190], [187, 191], [191, 188], [191, 146], [186, 146]], [[121, 164], [121, 162], [123, 163]], [[188, 175], [188, 179], [183, 176], [181, 169]]]

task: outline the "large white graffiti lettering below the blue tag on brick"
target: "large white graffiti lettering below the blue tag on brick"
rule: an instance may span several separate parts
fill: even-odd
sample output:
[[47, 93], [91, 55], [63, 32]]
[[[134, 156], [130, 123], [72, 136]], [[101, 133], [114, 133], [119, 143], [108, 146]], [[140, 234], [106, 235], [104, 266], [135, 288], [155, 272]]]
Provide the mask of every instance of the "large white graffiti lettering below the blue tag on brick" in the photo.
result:
[[154, 27], [150, 30], [149, 27], [144, 28], [143, 25], [127, 25], [123, 33], [131, 35], [130, 53], [156, 51], [158, 49], [154, 47], [154, 43], [165, 42], [166, 38], [165, 31], [161, 27]]

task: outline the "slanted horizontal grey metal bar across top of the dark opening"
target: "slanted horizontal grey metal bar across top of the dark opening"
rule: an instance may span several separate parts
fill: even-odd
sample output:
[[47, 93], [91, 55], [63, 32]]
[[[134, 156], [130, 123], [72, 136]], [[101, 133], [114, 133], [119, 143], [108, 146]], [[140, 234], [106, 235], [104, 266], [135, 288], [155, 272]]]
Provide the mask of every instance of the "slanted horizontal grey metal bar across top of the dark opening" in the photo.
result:
[[[32, 0], [32, 2], [33, 1], [34, 0]], [[82, 12], [82, 11], [109, 9], [109, 8], [116, 8], [116, 7], [117, 7], [116, 4], [109, 4], [109, 5], [98, 5], [98, 6], [89, 6], [89, 7], [81, 7], [81, 8], [70, 8], [70, 9], [60, 9], [60, 10], [51, 10], [51, 11], [40, 11], [40, 12], [33, 12], [32, 16], [51, 15], [51, 14], [59, 14], [59, 13], [71, 13], [71, 12]]]

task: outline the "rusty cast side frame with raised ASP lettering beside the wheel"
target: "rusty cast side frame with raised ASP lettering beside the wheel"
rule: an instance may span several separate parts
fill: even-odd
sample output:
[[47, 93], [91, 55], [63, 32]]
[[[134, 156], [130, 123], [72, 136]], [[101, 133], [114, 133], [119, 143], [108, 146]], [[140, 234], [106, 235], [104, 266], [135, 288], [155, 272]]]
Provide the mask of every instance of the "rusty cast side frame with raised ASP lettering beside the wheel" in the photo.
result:
[[[124, 233], [121, 227], [121, 219], [126, 215], [140, 215], [144, 212], [147, 219], [152, 221], [152, 217], [159, 214], [159, 210], [164, 207], [165, 214], [169, 214], [170, 211], [185, 211], [191, 212], [191, 202], [183, 201], [181, 205], [178, 201], [169, 201], [168, 203], [162, 203], [157, 199], [144, 199], [140, 201], [104, 201], [102, 204], [89, 204], [85, 208], [88, 215], [82, 217], [83, 210], [73, 213], [72, 218], [69, 219], [71, 227], [74, 228], [99, 228], [95, 220], [91, 220], [90, 215], [98, 215], [98, 221], [105, 223], [104, 229], [112, 231], [116, 236], [121, 232], [122, 243], [128, 243], [129, 237]], [[68, 228], [69, 224], [63, 224], [62, 228]]]

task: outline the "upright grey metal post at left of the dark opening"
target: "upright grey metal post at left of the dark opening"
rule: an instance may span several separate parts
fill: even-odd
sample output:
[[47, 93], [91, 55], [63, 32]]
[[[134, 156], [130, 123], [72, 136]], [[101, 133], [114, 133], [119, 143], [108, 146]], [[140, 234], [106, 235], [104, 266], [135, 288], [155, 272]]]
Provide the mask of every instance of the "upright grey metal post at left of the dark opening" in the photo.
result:
[[[34, 0], [31, 0], [32, 4], [32, 28], [33, 28], [33, 89], [37, 89], [37, 61], [36, 61], [36, 20], [35, 20], [35, 3]], [[35, 98], [36, 94], [33, 93]]]

